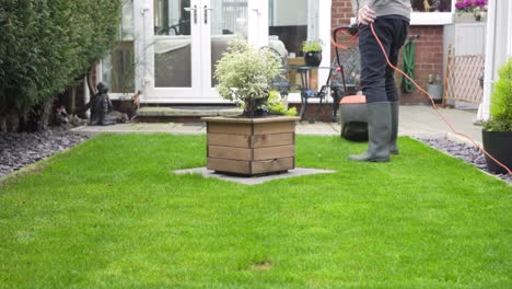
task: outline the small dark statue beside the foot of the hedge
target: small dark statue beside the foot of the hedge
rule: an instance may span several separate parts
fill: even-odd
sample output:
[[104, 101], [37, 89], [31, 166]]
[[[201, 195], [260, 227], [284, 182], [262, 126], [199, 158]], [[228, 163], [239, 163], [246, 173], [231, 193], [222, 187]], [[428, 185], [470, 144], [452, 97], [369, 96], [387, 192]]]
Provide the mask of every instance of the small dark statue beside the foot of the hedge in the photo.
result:
[[112, 112], [112, 102], [108, 97], [108, 85], [100, 82], [97, 83], [97, 93], [91, 101], [91, 119], [89, 125], [92, 126], [108, 126], [114, 125], [115, 120], [108, 117], [108, 113]]

